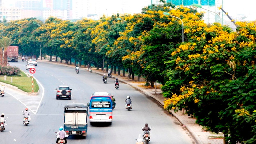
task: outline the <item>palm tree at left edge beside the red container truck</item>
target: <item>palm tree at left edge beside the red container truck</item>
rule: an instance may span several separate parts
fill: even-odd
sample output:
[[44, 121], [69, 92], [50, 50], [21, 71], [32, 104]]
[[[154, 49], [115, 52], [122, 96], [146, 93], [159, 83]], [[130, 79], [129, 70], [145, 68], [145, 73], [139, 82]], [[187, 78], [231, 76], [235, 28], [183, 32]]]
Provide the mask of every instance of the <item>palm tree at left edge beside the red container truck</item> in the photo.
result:
[[9, 37], [3, 37], [0, 39], [0, 47], [2, 47], [1, 50], [4, 48], [4, 51], [2, 51], [3, 56], [1, 56], [1, 59], [0, 59], [2, 66], [7, 66], [7, 61], [8, 61], [7, 60], [7, 49], [8, 49], [8, 46], [10, 46], [12, 43], [13, 43], [13, 41]]

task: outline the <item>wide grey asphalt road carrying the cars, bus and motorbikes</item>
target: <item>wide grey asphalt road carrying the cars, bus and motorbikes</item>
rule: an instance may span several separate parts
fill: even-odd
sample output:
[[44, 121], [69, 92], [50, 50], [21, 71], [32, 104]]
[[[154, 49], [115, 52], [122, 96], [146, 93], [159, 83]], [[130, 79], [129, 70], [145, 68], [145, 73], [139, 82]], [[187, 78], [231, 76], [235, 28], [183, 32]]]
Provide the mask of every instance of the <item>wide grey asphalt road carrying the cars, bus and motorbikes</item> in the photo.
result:
[[[25, 62], [10, 63], [26, 71]], [[29, 71], [27, 71], [29, 72]], [[63, 126], [63, 110], [68, 103], [89, 102], [93, 92], [110, 92], [116, 99], [116, 108], [113, 110], [111, 126], [90, 126], [86, 139], [69, 136], [69, 144], [132, 144], [142, 134], [141, 127], [148, 123], [152, 126], [150, 132], [151, 144], [196, 144], [196, 140], [182, 127], [180, 122], [169, 115], [151, 97], [145, 96], [127, 84], [120, 82], [120, 88], [114, 88], [114, 79], [108, 79], [107, 84], [102, 82], [102, 76], [62, 65], [38, 62], [36, 73], [33, 75], [43, 86], [39, 96], [40, 105], [35, 114], [31, 112], [31, 123], [25, 126], [22, 123], [22, 111], [26, 106], [17, 100], [13, 94], [6, 93], [0, 101], [0, 113], [8, 117], [6, 130], [0, 133], [0, 143], [5, 144], [54, 144], [60, 126]], [[72, 88], [71, 100], [55, 98], [55, 88], [58, 85], [69, 85]], [[17, 94], [18, 95], [18, 94]], [[125, 99], [129, 95], [132, 100], [132, 110], [125, 109]], [[29, 97], [28, 97], [29, 101]]]

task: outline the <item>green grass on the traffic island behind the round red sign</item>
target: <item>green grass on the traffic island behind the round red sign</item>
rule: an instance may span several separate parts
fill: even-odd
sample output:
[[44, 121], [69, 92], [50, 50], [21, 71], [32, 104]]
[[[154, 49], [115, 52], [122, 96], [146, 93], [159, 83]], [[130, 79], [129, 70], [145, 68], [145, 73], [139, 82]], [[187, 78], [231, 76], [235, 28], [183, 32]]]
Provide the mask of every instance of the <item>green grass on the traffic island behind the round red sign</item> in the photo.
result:
[[[12, 83], [11, 83], [11, 77], [12, 77]], [[34, 92], [38, 92], [39, 86], [34, 80]], [[18, 87], [18, 89], [24, 91], [24, 92], [32, 92], [32, 77], [27, 77], [27, 75], [21, 71], [20, 76], [6, 76], [6, 80], [4, 80], [4, 76], [0, 76], [0, 82], [10, 84], [13, 86]]]

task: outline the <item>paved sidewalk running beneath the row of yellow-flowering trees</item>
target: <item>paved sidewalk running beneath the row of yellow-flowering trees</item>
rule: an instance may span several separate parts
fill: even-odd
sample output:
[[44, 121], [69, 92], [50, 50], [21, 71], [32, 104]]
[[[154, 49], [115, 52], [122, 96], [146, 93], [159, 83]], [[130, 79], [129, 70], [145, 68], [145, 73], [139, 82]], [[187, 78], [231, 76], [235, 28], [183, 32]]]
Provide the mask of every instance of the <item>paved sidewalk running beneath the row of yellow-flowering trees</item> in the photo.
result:
[[[49, 62], [49, 61], [47, 61]], [[68, 67], [75, 68], [74, 65], [67, 65], [65, 63], [59, 63], [59, 62], [50, 62], [54, 64], [60, 64], [60, 65], [65, 65]], [[87, 68], [80, 67], [80, 69], [84, 69], [87, 71]], [[107, 74], [107, 72], [102, 72], [101, 69], [96, 70], [96, 68], [92, 68], [93, 73], [97, 73], [100, 75], [103, 75], [104, 73]], [[117, 72], [116, 72], [117, 73]], [[159, 102], [160, 105], [164, 105], [164, 97], [162, 97], [161, 89], [159, 84], [157, 84], [157, 94], [155, 94], [155, 88], [147, 88], [145, 87], [145, 81], [142, 81], [143, 79], [140, 78], [140, 82], [137, 81], [137, 76], [135, 77], [136, 80], [128, 80], [128, 74], [125, 74], [125, 76], [117, 75], [112, 73], [112, 78], [118, 78], [119, 81], [131, 85], [135, 89], [143, 92], [145, 95], [153, 97], [156, 101]], [[223, 139], [216, 138], [218, 136], [223, 136], [223, 134], [212, 134], [211, 132], [205, 132], [202, 130], [202, 126], [199, 126], [196, 124], [196, 119], [191, 118], [190, 116], [187, 116], [186, 114], [182, 115], [182, 112], [174, 112], [171, 111], [172, 115], [175, 116], [182, 124], [184, 127], [188, 129], [188, 131], [192, 134], [192, 136], [196, 139], [198, 144], [223, 144]], [[213, 138], [213, 139], [211, 139]]]

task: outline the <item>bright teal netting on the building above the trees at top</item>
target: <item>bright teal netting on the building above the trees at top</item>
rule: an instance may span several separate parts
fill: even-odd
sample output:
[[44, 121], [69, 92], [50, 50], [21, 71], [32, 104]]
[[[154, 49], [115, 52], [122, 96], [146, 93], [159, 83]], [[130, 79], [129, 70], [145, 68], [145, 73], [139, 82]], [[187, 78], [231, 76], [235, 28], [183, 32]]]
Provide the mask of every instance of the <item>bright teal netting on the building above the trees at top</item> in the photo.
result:
[[[167, 2], [172, 3], [174, 5], [192, 5], [192, 4], [199, 4], [199, 0], [167, 0]], [[215, 5], [215, 0], [200, 0], [201, 5]]]

